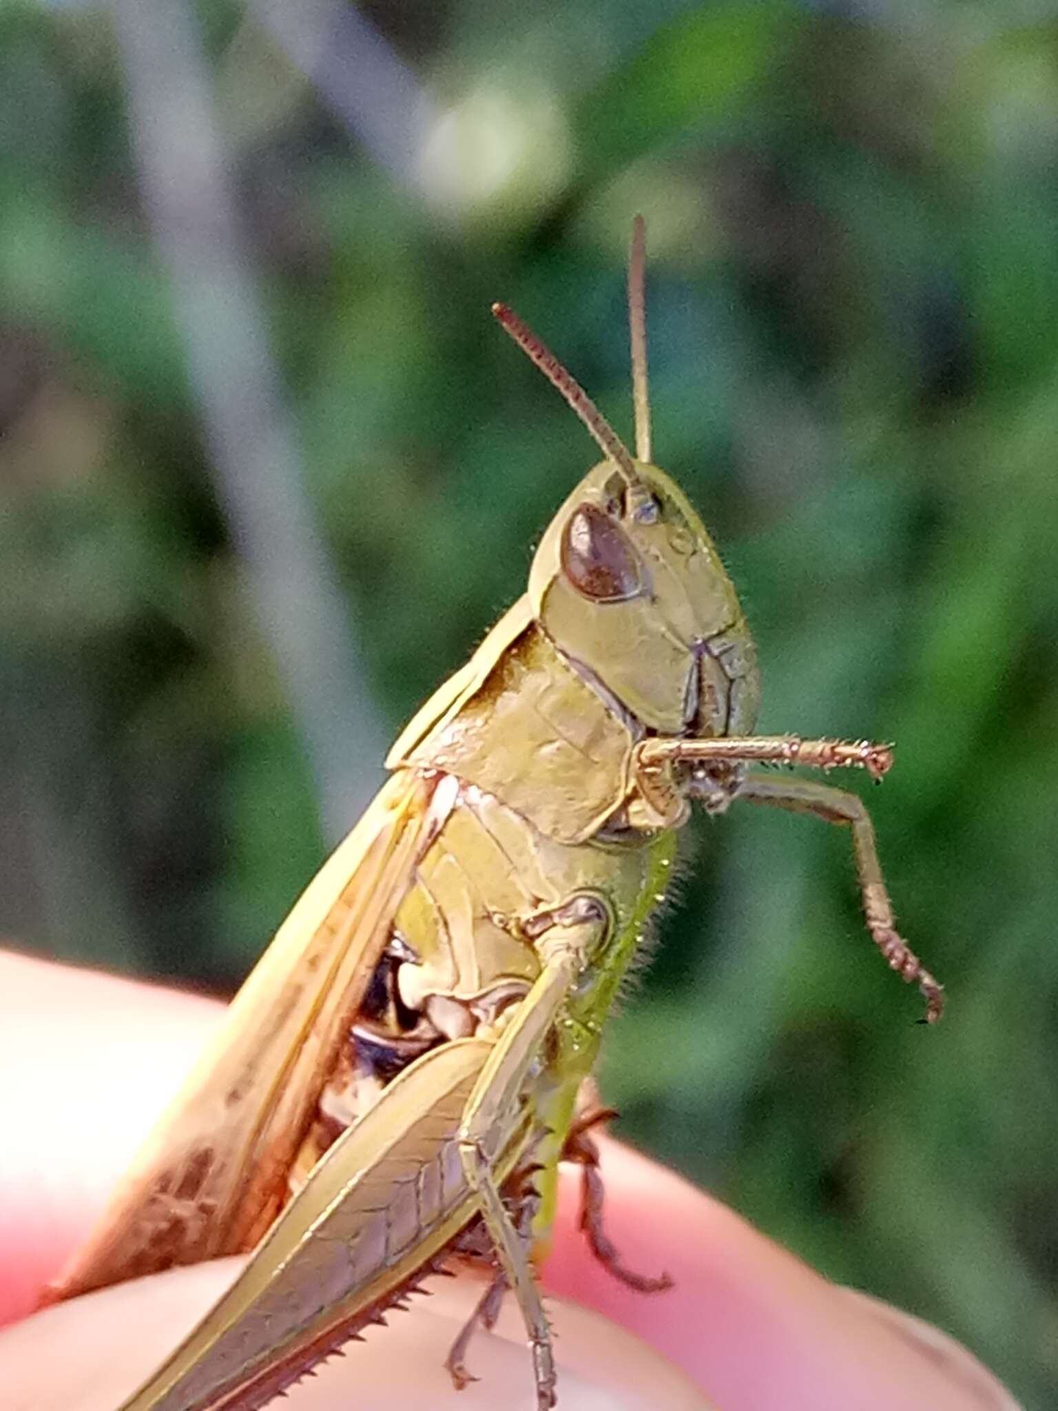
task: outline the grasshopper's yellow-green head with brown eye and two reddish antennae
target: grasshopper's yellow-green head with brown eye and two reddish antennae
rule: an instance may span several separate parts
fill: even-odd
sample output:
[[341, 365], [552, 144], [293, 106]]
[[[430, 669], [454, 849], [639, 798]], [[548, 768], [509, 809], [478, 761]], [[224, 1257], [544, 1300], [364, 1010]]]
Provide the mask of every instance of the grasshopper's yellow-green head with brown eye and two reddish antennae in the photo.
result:
[[552, 641], [649, 729], [750, 734], [760, 682], [735, 588], [687, 497], [650, 464], [643, 264], [636, 217], [628, 272], [636, 460], [557, 358], [494, 305], [607, 456], [547, 528], [529, 598]]

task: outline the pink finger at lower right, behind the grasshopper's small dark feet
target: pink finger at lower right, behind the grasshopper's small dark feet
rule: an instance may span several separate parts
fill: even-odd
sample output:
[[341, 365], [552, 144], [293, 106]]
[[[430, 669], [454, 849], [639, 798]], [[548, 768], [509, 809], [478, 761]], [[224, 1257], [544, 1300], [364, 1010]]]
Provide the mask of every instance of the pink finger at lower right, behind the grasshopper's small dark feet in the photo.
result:
[[952, 1339], [908, 1336], [916, 1319], [828, 1283], [676, 1173], [600, 1147], [609, 1239], [625, 1264], [664, 1270], [674, 1287], [638, 1294], [600, 1266], [577, 1229], [576, 1173], [563, 1180], [546, 1283], [646, 1338], [724, 1411], [1010, 1411], [1010, 1394]]

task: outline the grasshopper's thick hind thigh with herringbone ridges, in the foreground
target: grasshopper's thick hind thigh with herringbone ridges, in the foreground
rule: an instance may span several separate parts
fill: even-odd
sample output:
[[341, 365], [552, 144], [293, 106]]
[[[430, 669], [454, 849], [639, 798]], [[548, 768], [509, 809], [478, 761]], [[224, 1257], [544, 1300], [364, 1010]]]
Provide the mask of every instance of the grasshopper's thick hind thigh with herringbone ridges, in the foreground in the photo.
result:
[[[121, 1411], [255, 1411], [399, 1302], [475, 1215], [458, 1136], [491, 1050], [457, 1038], [395, 1078]], [[516, 1119], [499, 1180], [526, 1140]]]

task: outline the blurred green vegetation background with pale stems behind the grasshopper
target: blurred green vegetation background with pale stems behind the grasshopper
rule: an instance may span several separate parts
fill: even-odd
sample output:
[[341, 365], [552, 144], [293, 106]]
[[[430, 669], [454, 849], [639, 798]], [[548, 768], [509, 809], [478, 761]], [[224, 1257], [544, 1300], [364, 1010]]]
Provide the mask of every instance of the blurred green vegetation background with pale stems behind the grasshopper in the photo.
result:
[[[229, 993], [518, 595], [655, 447], [848, 837], [698, 821], [607, 1040], [631, 1140], [834, 1278], [1058, 1380], [1058, 6], [0, 7], [0, 927]], [[866, 790], [863, 780], [852, 787]]]

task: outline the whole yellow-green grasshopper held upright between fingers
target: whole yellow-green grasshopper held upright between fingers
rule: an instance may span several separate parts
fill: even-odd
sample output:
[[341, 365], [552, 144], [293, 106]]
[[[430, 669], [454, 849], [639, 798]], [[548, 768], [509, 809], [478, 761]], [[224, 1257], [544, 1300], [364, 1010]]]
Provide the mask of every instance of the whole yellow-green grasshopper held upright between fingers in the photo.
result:
[[254, 1411], [446, 1260], [492, 1281], [457, 1339], [513, 1292], [537, 1404], [556, 1404], [535, 1280], [556, 1168], [611, 1271], [578, 1108], [605, 1017], [663, 899], [691, 801], [848, 825], [866, 927], [940, 1017], [897, 934], [858, 796], [752, 765], [859, 766], [866, 741], [755, 735], [753, 639], [690, 502], [652, 463], [645, 237], [629, 260], [636, 456], [502, 305], [502, 327], [602, 450], [546, 531], [529, 587], [394, 745], [392, 772], [234, 999], [216, 1046], [52, 1291], [255, 1249], [123, 1411]]

